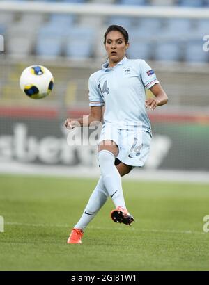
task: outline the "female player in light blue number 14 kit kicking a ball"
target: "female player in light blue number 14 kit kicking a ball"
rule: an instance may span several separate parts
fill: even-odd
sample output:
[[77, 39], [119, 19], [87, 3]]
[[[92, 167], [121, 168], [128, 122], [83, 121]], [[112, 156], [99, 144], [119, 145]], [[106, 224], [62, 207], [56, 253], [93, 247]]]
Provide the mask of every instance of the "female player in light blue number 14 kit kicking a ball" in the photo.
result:
[[[144, 60], [131, 60], [125, 56], [129, 42], [123, 27], [109, 26], [104, 34], [104, 47], [108, 60], [89, 78], [90, 114], [65, 121], [67, 129], [102, 122], [102, 106], [105, 106], [98, 141], [101, 176], [82, 217], [71, 231], [68, 243], [82, 243], [84, 229], [109, 196], [115, 205], [111, 211], [112, 220], [125, 225], [134, 221], [125, 206], [121, 177], [133, 167], [143, 166], [148, 157], [152, 133], [146, 108], [154, 110], [168, 101], [151, 67]], [[146, 100], [145, 88], [150, 89], [155, 97]]]

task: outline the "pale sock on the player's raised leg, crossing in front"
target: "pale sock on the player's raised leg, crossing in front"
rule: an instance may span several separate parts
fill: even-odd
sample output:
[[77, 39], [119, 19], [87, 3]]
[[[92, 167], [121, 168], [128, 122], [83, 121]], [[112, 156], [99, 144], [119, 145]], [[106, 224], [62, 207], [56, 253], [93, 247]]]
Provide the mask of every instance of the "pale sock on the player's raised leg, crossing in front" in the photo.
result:
[[108, 150], [101, 150], [98, 154], [100, 170], [104, 186], [106, 187], [116, 208], [122, 206], [126, 209], [123, 197], [123, 188], [121, 183], [121, 175], [115, 166], [115, 156]]

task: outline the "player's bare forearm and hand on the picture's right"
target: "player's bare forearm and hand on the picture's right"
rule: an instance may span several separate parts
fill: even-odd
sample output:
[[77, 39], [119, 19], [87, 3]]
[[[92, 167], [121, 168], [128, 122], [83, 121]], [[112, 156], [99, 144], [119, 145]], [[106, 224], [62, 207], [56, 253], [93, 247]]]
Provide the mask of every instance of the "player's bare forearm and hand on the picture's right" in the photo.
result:
[[155, 84], [150, 88], [151, 92], [155, 97], [151, 97], [145, 101], [146, 108], [150, 106], [152, 110], [154, 110], [157, 106], [162, 106], [167, 104], [168, 97], [166, 92], [164, 92], [160, 83]]

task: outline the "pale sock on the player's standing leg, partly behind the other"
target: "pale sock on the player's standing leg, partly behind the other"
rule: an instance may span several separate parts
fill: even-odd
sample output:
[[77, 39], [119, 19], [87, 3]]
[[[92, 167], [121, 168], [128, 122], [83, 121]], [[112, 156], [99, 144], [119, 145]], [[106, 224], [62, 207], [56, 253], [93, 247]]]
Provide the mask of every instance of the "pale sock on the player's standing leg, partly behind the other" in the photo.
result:
[[97, 186], [93, 190], [93, 193], [91, 194], [88, 200], [88, 204], [86, 205], [82, 217], [80, 218], [79, 222], [77, 222], [77, 224], [75, 225], [75, 229], [82, 229], [84, 231], [89, 222], [93, 220], [95, 215], [102, 208], [104, 203], [107, 201], [108, 197], [109, 194], [104, 186], [102, 177], [100, 177]]

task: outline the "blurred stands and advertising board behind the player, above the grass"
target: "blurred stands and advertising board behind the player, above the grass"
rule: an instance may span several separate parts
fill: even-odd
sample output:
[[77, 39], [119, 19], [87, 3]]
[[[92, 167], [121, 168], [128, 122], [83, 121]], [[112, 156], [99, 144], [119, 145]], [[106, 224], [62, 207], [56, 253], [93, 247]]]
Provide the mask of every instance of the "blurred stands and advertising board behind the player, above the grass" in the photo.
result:
[[[0, 172], [98, 177], [97, 148], [68, 146], [63, 122], [88, 114], [88, 77], [106, 59], [104, 32], [119, 24], [127, 56], [146, 60], [169, 96], [148, 111], [150, 156], [130, 177], [208, 181], [208, 10], [208, 0], [0, 1]], [[45, 99], [20, 91], [33, 64], [54, 75]]]

